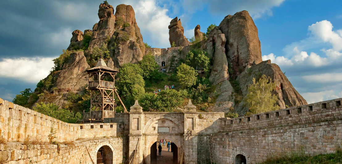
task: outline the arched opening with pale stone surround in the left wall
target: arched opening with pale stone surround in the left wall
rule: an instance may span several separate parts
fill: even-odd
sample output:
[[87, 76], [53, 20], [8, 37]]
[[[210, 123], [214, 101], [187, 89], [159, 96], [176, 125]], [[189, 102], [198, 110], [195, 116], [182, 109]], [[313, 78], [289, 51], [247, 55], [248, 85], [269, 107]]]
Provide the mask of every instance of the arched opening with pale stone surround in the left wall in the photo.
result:
[[98, 144], [93, 154], [97, 164], [113, 164], [114, 147], [108, 141]]

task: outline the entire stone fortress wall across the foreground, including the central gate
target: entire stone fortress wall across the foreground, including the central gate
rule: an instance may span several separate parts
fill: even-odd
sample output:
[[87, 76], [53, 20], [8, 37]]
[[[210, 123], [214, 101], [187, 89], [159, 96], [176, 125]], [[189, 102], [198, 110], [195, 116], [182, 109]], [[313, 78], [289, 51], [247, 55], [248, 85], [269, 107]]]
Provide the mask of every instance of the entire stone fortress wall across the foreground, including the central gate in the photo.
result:
[[[341, 102], [339, 98], [233, 119], [224, 118], [223, 112], [196, 112], [188, 104], [184, 112], [131, 109], [105, 123], [69, 124], [0, 99], [0, 133], [6, 141], [0, 144], [0, 163], [91, 164], [102, 146], [114, 154], [107, 156], [113, 163], [127, 162], [135, 153], [135, 163], [150, 163], [152, 144], [165, 138], [176, 143], [178, 162], [184, 152], [189, 164], [199, 163], [203, 155], [209, 158], [208, 151], [200, 151], [209, 149], [209, 140], [215, 163], [235, 163], [239, 154], [247, 163], [257, 163], [297, 150], [331, 153], [342, 144]], [[47, 143], [52, 125], [59, 145]], [[38, 136], [40, 144], [23, 144], [28, 135]]]

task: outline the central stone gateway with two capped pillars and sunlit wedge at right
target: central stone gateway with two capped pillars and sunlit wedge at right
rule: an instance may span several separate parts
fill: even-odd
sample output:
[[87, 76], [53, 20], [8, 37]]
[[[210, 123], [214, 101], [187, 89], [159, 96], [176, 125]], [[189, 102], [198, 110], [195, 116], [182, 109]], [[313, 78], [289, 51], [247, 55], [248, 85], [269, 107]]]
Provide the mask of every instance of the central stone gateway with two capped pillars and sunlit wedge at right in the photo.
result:
[[224, 113], [198, 113], [191, 100], [184, 112], [143, 112], [136, 100], [129, 115], [130, 162], [156, 163], [159, 141], [166, 139], [173, 142], [169, 163], [179, 164], [182, 158], [185, 163], [197, 162], [197, 135], [218, 131], [211, 125], [219, 124]]

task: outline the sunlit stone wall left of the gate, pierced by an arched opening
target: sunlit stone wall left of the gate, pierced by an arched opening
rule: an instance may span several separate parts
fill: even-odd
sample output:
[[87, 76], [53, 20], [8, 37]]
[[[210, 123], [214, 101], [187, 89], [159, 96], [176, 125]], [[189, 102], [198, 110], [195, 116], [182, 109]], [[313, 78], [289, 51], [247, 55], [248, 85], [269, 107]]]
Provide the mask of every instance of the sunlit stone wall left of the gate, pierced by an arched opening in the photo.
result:
[[[0, 144], [0, 163], [90, 164], [96, 162], [99, 145], [112, 147], [114, 163], [122, 163], [128, 140], [121, 135], [129, 130], [129, 124], [124, 124], [128, 117], [128, 113], [117, 113], [112, 123], [70, 124], [0, 98], [0, 135], [6, 141]], [[59, 146], [48, 143], [52, 125]], [[23, 145], [25, 137], [37, 145]]]

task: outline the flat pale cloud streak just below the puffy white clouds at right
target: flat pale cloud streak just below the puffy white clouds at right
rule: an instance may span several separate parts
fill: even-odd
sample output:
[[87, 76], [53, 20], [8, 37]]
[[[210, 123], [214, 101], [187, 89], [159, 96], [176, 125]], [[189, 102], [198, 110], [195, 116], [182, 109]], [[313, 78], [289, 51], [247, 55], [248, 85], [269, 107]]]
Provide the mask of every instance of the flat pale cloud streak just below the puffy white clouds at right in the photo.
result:
[[[342, 73], [322, 73], [302, 77], [307, 82], [327, 83], [342, 82]], [[342, 92], [341, 92], [342, 93]]]

